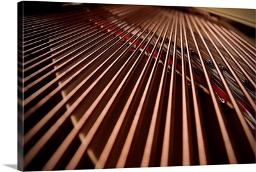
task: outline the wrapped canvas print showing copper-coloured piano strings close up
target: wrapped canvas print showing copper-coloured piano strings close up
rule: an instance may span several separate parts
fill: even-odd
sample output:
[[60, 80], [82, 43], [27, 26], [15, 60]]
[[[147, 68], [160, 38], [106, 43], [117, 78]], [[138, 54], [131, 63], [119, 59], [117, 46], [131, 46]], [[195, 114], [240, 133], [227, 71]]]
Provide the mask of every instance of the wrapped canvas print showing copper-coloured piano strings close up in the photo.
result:
[[17, 6], [19, 170], [255, 163], [255, 10]]

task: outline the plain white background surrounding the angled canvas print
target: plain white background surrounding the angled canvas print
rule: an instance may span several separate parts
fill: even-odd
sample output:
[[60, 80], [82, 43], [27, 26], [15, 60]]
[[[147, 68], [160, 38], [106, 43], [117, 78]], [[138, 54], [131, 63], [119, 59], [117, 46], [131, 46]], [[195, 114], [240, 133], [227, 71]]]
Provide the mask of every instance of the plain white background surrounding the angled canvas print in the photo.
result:
[[[2, 0], [0, 3], [0, 171], [17, 171], [17, 0]], [[95, 1], [61, 1], [95, 3]], [[204, 6], [223, 8], [256, 8], [254, 0], [105, 0], [96, 3], [154, 4], [167, 6]], [[255, 164], [225, 166], [184, 166], [144, 169], [104, 169], [79, 171], [254, 171]]]

